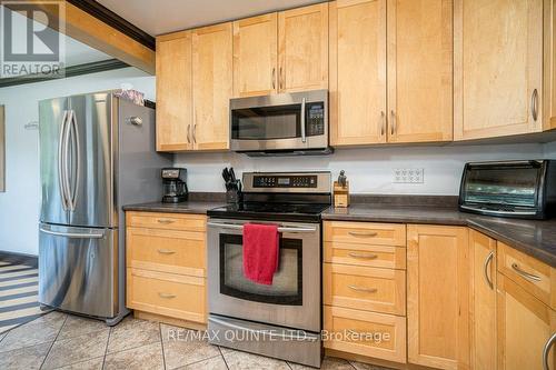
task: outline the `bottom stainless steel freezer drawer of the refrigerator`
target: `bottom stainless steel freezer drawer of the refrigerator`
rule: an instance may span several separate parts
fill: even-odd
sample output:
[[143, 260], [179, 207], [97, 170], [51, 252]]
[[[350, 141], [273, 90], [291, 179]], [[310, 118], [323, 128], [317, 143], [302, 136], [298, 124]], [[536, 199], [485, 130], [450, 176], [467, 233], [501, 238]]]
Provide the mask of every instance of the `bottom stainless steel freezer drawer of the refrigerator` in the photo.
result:
[[102, 318], [118, 313], [118, 230], [39, 224], [39, 302]]

